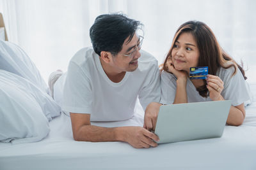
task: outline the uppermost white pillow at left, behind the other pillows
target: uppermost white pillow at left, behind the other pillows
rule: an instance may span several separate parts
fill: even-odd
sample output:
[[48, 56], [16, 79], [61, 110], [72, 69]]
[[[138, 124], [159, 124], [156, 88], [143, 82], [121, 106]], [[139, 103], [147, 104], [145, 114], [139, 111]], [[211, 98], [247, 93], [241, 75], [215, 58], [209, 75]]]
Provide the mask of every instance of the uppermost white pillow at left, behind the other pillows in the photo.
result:
[[49, 88], [28, 55], [17, 45], [0, 40], [0, 69], [26, 78], [49, 94]]

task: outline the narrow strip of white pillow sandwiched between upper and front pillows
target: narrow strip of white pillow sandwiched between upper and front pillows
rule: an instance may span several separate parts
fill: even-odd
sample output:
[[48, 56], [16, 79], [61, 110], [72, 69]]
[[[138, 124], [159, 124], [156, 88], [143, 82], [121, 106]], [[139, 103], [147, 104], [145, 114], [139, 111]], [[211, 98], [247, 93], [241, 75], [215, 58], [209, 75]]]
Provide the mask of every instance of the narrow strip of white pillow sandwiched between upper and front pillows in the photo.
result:
[[49, 121], [52, 120], [52, 117], [58, 117], [60, 115], [61, 108], [56, 103], [56, 101], [54, 101], [54, 99], [52, 99], [52, 97], [49, 96], [46, 92], [43, 92], [41, 89], [36, 87], [33, 83], [26, 80], [25, 78], [0, 69], [0, 83], [10, 83], [10, 85], [12, 85], [10, 88], [17, 90], [21, 89], [32, 96]]

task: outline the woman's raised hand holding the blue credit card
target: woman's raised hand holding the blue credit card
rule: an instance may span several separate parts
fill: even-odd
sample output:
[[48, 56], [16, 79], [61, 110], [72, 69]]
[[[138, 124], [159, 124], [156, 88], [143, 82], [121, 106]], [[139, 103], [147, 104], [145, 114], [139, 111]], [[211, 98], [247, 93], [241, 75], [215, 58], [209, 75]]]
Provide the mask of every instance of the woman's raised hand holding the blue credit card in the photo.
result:
[[221, 92], [224, 89], [224, 83], [218, 76], [214, 76], [211, 74], [207, 75], [207, 89], [210, 93], [210, 98], [212, 101], [222, 101], [224, 100], [221, 96]]

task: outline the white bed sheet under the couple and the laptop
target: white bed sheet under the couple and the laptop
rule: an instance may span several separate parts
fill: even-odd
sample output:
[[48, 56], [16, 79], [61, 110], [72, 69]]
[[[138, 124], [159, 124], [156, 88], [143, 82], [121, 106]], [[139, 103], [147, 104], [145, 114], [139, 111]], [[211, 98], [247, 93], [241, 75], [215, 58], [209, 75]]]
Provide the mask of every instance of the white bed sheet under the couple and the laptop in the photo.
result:
[[[251, 85], [256, 94], [256, 85]], [[256, 97], [255, 97], [256, 98]], [[137, 111], [140, 112], [140, 111]], [[143, 116], [106, 127], [142, 125]], [[226, 126], [221, 138], [161, 144], [136, 149], [123, 142], [78, 142], [70, 118], [50, 122], [47, 138], [36, 143], [0, 143], [0, 169], [256, 169], [256, 103], [246, 107], [239, 127]]]

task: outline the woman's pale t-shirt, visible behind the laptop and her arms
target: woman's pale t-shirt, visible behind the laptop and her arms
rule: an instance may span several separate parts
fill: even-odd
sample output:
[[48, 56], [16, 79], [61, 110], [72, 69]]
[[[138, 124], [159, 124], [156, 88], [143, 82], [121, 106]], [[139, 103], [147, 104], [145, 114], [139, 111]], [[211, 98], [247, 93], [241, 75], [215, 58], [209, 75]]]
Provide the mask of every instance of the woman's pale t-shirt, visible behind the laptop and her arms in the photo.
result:
[[[221, 92], [221, 96], [225, 100], [231, 100], [232, 106], [238, 106], [245, 101], [250, 99], [248, 94], [246, 84], [243, 78], [243, 74], [237, 68], [236, 74], [234, 73], [234, 67], [225, 69], [220, 67], [216, 75], [224, 83], [224, 89]], [[176, 89], [177, 89], [177, 78], [174, 74], [167, 73], [163, 71], [161, 73], [161, 102], [162, 104], [172, 104], [175, 99]], [[202, 102], [202, 101], [212, 101], [210, 97], [202, 97], [196, 90], [193, 83], [189, 80], [186, 86], [188, 103]]]

